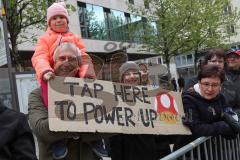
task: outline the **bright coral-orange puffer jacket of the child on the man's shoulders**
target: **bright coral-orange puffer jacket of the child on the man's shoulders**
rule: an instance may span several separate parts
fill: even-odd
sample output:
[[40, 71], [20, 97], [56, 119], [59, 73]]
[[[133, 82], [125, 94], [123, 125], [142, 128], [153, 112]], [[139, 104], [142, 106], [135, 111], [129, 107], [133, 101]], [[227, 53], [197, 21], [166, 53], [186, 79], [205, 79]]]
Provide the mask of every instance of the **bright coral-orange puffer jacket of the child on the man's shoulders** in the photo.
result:
[[[53, 71], [53, 53], [59, 43], [72, 42], [81, 50], [82, 64], [79, 69], [79, 77], [96, 78], [92, 60], [85, 52], [82, 40], [72, 32], [57, 33], [47, 29], [36, 44], [35, 53], [32, 56], [32, 65], [36, 71], [37, 79], [41, 84], [43, 73]], [[53, 71], [54, 72], [54, 71]]]

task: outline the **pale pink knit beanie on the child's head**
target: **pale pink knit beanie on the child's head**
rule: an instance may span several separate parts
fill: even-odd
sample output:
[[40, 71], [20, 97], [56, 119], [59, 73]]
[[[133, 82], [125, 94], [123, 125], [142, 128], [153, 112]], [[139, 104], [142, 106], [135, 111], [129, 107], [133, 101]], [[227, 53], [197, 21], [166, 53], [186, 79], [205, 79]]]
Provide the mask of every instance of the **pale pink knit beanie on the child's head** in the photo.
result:
[[49, 24], [50, 19], [56, 15], [61, 15], [66, 17], [67, 22], [69, 22], [68, 11], [66, 9], [66, 5], [64, 2], [53, 3], [47, 9], [47, 23]]

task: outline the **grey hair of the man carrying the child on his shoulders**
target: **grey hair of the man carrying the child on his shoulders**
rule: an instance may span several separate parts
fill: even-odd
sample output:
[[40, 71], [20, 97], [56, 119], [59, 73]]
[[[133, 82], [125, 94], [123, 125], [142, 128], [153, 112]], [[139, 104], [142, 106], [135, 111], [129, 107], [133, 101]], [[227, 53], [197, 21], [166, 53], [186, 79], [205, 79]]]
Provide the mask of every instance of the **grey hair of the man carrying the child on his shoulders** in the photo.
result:
[[54, 51], [53, 54], [53, 61], [56, 62], [58, 56], [64, 52], [64, 51], [72, 51], [76, 55], [76, 57], [80, 58], [81, 57], [81, 51], [79, 48], [74, 45], [73, 43], [66, 42], [66, 43], [61, 43]]

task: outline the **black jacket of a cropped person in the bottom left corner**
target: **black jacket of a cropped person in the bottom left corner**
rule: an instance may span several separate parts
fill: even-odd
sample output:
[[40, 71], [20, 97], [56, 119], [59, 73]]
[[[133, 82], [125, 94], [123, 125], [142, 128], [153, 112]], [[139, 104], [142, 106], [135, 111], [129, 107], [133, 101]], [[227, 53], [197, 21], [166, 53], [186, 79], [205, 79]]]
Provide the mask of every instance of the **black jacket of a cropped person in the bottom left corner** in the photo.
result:
[[0, 105], [0, 159], [37, 159], [33, 135], [26, 116], [2, 105]]

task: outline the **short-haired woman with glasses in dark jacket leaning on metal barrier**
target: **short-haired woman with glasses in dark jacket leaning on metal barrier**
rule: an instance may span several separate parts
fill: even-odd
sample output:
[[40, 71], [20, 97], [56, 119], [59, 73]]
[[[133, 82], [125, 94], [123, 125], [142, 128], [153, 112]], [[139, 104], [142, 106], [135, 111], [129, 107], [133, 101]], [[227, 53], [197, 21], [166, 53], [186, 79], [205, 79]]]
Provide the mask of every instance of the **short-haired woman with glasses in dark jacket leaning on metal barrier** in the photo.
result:
[[234, 137], [238, 130], [225, 118], [225, 100], [220, 94], [224, 71], [217, 65], [205, 65], [197, 78], [193, 90], [183, 93], [186, 114], [183, 123], [190, 128], [193, 138]]

